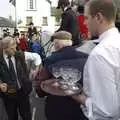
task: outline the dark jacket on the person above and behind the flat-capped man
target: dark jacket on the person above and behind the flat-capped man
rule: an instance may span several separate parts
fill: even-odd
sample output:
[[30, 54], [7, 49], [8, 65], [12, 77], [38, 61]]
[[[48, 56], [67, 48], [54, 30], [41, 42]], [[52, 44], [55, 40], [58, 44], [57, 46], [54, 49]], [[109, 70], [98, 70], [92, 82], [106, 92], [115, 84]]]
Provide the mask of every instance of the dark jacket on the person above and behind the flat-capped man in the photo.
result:
[[72, 34], [73, 45], [80, 42], [79, 25], [76, 13], [71, 9], [66, 9], [62, 14], [61, 26], [57, 31], [65, 30]]

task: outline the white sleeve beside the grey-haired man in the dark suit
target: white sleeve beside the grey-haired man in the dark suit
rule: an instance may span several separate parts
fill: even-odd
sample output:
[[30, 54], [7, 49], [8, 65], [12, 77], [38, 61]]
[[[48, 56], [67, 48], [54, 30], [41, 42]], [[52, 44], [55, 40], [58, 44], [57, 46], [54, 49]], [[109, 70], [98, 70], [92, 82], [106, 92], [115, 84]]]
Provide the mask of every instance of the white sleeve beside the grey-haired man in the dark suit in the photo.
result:
[[32, 61], [36, 66], [39, 66], [42, 62], [40, 55], [31, 52], [25, 52], [25, 60]]

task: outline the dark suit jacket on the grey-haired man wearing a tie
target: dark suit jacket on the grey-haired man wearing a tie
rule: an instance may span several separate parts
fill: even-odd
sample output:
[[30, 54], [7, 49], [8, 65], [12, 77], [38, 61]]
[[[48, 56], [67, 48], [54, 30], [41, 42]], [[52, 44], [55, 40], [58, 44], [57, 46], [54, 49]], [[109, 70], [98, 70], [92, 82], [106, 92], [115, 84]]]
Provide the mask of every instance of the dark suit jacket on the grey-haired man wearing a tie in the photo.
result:
[[[15, 63], [18, 81], [21, 86], [20, 91], [22, 94], [28, 95], [32, 91], [32, 83], [29, 80], [24, 54], [16, 52]], [[0, 81], [7, 83], [8, 85], [12, 84], [9, 77], [9, 68], [2, 53], [0, 54]]]

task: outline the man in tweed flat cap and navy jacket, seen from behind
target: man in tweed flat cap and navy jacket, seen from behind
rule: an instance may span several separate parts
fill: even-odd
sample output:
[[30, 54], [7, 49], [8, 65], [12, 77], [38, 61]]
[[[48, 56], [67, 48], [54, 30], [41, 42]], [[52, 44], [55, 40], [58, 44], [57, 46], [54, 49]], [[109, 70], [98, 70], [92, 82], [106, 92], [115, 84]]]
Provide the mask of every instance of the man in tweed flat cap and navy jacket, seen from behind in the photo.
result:
[[[55, 52], [53, 52], [51, 56], [46, 58], [46, 60], [44, 61], [44, 68], [42, 68], [42, 70], [40, 71], [38, 81], [36, 80], [36, 82], [43, 81], [42, 84], [46, 81], [51, 83], [52, 80], [48, 79], [55, 79], [55, 76], [53, 77], [54, 74], [52, 73], [52, 69], [54, 68], [54, 64], [57, 64], [57, 62], [59, 62], [58, 68], [60, 68], [60, 66], [62, 66], [62, 64], [60, 65], [60, 62], [62, 63], [63, 60], [73, 60], [74, 62], [75, 60], [82, 58], [83, 61], [81, 62], [81, 66], [79, 66], [80, 63], [77, 64], [74, 62], [75, 65], [71, 64], [72, 67], [79, 67], [82, 72], [83, 66], [88, 57], [88, 54], [82, 53], [77, 50], [75, 46], [72, 46], [72, 36], [69, 32], [56, 32], [55, 34], [53, 34], [52, 38]], [[80, 80], [80, 83], [82, 84], [82, 79]], [[37, 83], [37, 85], [38, 95], [41, 96], [41, 84]], [[44, 90], [43, 87], [42, 90]], [[46, 92], [46, 90], [44, 91]], [[87, 118], [83, 115], [79, 104], [71, 97], [59, 96], [59, 94], [52, 95], [49, 92], [50, 91], [48, 91], [47, 94], [44, 94], [47, 96], [45, 106], [45, 114], [47, 120], [87, 120]], [[54, 89], [54, 92], [56, 92], [56, 89]]]

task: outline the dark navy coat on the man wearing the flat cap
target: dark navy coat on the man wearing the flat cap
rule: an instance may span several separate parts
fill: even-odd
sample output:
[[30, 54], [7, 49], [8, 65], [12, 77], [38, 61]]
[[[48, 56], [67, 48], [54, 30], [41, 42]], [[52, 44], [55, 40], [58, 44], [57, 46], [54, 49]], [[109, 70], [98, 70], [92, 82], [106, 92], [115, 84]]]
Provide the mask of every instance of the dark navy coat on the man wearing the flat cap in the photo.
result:
[[[48, 96], [45, 105], [47, 120], [87, 120], [80, 109], [79, 103], [71, 97], [50, 95], [43, 92], [40, 88], [41, 81], [53, 78], [51, 68], [53, 68], [54, 65], [60, 68], [61, 66], [65, 66], [67, 62], [72, 61], [72, 63], [68, 63], [67, 65], [73, 68], [77, 67], [82, 72], [87, 57], [87, 54], [77, 51], [76, 48], [72, 46], [62, 48], [45, 59], [44, 68], [41, 69], [36, 79], [36, 91], [40, 97], [44, 95]], [[64, 61], [66, 61], [65, 64], [63, 64]], [[82, 83], [82, 78], [80, 83]]]

